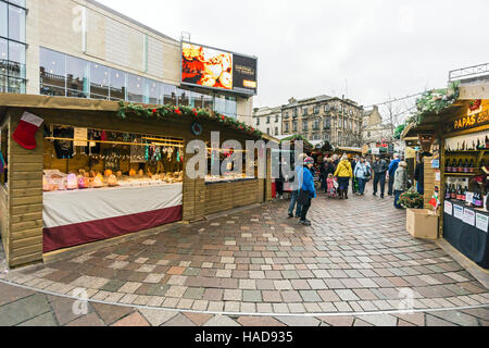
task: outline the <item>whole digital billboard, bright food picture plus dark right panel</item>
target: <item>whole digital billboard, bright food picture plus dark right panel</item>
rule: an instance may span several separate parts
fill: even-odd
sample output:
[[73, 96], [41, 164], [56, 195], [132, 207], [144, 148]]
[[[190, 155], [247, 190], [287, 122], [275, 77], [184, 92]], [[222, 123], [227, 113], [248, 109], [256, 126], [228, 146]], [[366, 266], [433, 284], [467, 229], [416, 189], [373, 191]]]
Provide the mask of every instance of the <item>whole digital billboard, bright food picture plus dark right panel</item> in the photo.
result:
[[202, 45], [181, 44], [181, 83], [256, 94], [256, 59]]

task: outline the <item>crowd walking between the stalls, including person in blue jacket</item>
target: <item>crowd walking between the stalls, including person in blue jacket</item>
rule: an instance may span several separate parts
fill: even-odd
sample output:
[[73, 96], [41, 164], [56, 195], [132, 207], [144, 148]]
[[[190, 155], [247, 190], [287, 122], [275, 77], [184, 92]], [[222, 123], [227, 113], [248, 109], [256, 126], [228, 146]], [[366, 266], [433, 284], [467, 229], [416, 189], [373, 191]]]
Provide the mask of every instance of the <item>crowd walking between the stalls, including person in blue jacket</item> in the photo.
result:
[[[416, 174], [422, 171], [422, 169], [416, 167]], [[292, 188], [288, 216], [299, 217], [300, 224], [310, 226], [311, 222], [306, 219], [306, 215], [312, 199], [316, 198], [314, 159], [305, 153], [301, 154], [294, 173], [298, 181], [297, 187]], [[421, 174], [418, 175], [421, 176]], [[397, 209], [402, 209], [399, 204], [399, 198], [408, 189], [409, 179], [408, 163], [401, 161], [399, 154], [394, 154], [389, 163], [380, 157], [375, 157], [372, 164], [364, 157], [355, 157], [350, 162], [347, 154], [343, 154], [341, 159], [334, 154], [330, 158], [324, 158], [319, 164], [321, 190], [329, 194], [329, 196], [334, 190], [340, 199], [348, 199], [350, 181], [353, 194], [364, 196], [366, 183], [372, 177], [374, 178], [373, 195], [377, 196], [377, 192], [380, 191], [380, 198], [385, 198], [386, 182], [388, 181], [387, 194], [390, 197], [393, 196], [393, 206]]]

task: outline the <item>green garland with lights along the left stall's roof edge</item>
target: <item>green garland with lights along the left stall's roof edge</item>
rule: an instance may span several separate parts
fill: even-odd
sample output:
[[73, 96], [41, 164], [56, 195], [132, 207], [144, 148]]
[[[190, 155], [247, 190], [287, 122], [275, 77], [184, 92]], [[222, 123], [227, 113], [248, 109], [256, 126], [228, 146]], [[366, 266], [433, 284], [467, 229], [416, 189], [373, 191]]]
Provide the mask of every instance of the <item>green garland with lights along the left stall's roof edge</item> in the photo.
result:
[[192, 119], [208, 119], [220, 122], [225, 126], [234, 128], [236, 130], [247, 133], [249, 135], [262, 136], [263, 133], [259, 129], [247, 125], [243, 122], [239, 122], [235, 119], [228, 117], [217, 112], [209, 111], [206, 109], [197, 109], [191, 107], [174, 107], [174, 105], [159, 105], [151, 107], [148, 104], [126, 103], [124, 101], [118, 102], [118, 110], [116, 116], [120, 119], [126, 119], [127, 114], [135, 114], [138, 117], [146, 119], [166, 119], [168, 116], [174, 117], [192, 117]]

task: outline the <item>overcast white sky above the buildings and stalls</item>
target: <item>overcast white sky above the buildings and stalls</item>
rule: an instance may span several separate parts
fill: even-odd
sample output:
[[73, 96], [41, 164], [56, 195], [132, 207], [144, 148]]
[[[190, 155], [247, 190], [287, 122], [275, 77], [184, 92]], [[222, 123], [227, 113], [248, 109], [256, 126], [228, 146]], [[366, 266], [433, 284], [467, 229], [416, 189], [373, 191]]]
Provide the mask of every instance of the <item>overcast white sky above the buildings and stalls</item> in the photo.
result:
[[175, 39], [259, 58], [255, 107], [290, 97], [371, 105], [489, 62], [487, 0], [99, 0]]

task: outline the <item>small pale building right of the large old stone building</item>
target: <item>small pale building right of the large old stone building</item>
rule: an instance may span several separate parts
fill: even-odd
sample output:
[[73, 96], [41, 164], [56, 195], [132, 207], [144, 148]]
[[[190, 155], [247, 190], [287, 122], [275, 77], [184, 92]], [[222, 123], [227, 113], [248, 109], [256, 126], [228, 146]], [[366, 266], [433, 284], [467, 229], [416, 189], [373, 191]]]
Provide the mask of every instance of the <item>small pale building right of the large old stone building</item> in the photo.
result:
[[383, 116], [377, 105], [364, 112], [362, 139], [363, 145], [368, 146], [368, 148], [375, 148], [381, 142], [392, 142], [393, 140], [392, 125], [383, 123]]

